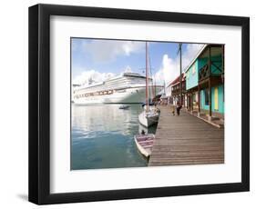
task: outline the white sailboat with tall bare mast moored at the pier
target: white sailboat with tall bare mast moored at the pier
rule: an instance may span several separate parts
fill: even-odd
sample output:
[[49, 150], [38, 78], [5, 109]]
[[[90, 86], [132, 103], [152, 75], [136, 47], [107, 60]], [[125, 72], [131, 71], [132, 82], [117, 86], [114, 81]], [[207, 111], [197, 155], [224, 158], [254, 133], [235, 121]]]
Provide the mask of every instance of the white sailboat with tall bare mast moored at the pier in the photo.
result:
[[159, 111], [157, 108], [149, 108], [148, 103], [148, 43], [146, 42], [146, 105], [143, 112], [138, 114], [138, 121], [140, 124], [149, 127], [152, 124], [159, 122]]

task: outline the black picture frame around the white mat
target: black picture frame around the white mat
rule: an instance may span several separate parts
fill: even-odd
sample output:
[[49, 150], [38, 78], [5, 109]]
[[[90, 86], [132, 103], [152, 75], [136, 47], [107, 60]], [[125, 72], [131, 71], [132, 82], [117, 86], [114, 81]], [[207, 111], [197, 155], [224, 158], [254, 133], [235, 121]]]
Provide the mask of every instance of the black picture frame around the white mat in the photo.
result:
[[[50, 194], [50, 16], [241, 26], [241, 183]], [[250, 190], [250, 18], [71, 5], [29, 7], [29, 201], [64, 204]]]

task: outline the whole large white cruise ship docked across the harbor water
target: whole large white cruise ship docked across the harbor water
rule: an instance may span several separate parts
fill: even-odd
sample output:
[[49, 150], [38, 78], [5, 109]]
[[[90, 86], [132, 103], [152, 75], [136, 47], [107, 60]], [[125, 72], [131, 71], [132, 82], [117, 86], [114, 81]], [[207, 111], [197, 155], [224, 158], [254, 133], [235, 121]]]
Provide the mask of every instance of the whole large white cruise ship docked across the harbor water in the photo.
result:
[[[152, 85], [148, 78], [149, 93], [154, 95], [163, 88]], [[76, 86], [72, 90], [75, 104], [138, 104], [146, 101], [146, 77], [136, 73], [123, 73], [101, 83]]]

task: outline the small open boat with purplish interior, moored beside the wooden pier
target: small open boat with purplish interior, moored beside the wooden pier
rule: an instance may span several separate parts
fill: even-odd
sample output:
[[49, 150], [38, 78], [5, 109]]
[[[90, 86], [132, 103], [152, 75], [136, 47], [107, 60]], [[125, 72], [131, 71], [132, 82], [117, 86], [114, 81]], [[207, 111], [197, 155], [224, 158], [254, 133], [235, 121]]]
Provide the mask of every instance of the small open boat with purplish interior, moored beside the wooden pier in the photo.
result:
[[137, 134], [134, 136], [135, 144], [140, 154], [149, 157], [153, 147], [155, 134]]

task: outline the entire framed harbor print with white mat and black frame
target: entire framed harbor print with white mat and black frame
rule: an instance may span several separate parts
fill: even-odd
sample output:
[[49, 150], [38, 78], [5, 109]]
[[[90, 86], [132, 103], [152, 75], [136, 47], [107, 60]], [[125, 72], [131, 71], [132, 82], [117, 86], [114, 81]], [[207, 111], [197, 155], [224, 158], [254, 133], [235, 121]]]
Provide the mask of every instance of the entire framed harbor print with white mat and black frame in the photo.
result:
[[29, 201], [249, 191], [250, 20], [29, 7]]

